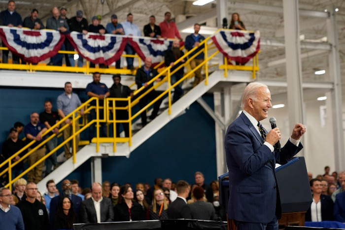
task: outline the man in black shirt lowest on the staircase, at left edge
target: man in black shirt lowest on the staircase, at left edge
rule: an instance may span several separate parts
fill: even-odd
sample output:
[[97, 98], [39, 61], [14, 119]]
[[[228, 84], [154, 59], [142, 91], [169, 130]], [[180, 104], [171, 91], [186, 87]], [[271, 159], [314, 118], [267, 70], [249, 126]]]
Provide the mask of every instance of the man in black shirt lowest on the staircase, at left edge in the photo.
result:
[[[8, 159], [11, 157], [14, 153], [17, 153], [19, 150], [25, 147], [25, 142], [18, 139], [18, 132], [17, 129], [11, 128], [9, 130], [9, 136], [10, 138], [7, 139], [3, 145], [2, 145], [2, 155], [5, 159]], [[12, 164], [16, 161], [18, 161], [23, 155], [27, 153], [27, 150], [23, 151], [16, 157], [12, 159]], [[23, 161], [20, 161], [17, 165], [12, 167], [12, 179], [16, 178], [23, 172]]]

